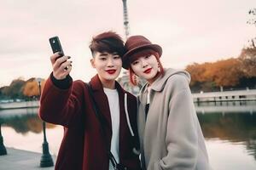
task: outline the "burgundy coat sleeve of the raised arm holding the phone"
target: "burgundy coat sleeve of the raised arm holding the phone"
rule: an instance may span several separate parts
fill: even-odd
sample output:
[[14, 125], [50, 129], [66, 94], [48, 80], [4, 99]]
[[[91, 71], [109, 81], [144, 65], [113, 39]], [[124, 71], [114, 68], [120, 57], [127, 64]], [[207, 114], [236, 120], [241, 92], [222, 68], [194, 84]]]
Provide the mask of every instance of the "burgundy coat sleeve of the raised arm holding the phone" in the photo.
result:
[[72, 82], [67, 89], [55, 87], [50, 78], [44, 85], [38, 115], [45, 122], [70, 127], [80, 124], [83, 101], [83, 82]]

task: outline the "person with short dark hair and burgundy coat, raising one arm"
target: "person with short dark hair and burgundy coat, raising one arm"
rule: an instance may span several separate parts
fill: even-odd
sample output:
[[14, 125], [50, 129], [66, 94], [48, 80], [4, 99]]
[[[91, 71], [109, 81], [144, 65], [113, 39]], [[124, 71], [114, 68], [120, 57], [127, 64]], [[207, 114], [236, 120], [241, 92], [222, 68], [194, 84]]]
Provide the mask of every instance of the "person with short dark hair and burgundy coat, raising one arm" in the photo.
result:
[[39, 116], [64, 127], [55, 169], [141, 169], [137, 100], [115, 81], [124, 43], [116, 33], [104, 32], [92, 38], [90, 51], [97, 74], [89, 85], [73, 82], [70, 57], [50, 57], [53, 72], [44, 85]]

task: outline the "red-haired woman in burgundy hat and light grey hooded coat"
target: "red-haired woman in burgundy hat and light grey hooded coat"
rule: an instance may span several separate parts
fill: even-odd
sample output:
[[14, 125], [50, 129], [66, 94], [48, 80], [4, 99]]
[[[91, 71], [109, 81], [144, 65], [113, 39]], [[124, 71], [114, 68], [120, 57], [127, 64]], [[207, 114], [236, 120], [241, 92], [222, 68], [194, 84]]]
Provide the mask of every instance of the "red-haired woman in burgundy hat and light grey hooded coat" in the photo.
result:
[[146, 37], [125, 42], [123, 67], [147, 80], [138, 96], [138, 133], [143, 169], [208, 170], [207, 149], [189, 89], [186, 71], [164, 69], [162, 48]]

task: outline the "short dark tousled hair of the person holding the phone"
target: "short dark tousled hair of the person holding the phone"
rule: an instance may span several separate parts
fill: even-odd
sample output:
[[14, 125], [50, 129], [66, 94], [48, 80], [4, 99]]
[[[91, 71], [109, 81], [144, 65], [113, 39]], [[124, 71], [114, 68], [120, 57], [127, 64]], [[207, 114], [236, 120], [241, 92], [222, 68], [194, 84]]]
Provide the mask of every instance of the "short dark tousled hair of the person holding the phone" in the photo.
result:
[[117, 53], [120, 57], [125, 54], [124, 41], [113, 31], [103, 32], [96, 37], [92, 37], [89, 48], [92, 56], [96, 52]]

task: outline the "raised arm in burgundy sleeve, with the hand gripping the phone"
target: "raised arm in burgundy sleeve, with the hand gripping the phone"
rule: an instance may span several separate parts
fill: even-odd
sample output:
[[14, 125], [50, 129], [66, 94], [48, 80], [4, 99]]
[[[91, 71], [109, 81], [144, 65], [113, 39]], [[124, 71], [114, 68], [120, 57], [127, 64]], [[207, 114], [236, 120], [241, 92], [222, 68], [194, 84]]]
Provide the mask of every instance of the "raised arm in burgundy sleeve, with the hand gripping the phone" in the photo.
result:
[[50, 57], [53, 72], [45, 82], [40, 99], [39, 116], [45, 122], [72, 126], [81, 121], [83, 82], [73, 82], [69, 57], [54, 54]]

